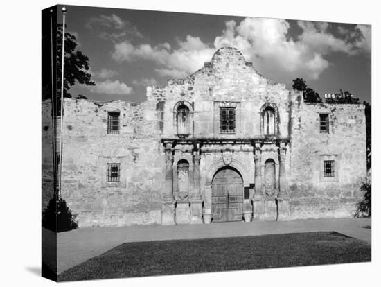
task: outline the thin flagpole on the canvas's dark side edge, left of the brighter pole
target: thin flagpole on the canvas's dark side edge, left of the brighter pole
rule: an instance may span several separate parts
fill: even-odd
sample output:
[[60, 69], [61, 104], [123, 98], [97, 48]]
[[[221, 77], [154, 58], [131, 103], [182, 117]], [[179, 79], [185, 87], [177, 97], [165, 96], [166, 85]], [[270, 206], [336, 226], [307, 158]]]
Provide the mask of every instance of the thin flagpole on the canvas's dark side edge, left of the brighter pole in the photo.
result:
[[57, 200], [57, 152], [55, 139], [55, 132], [57, 132], [57, 126], [55, 125], [55, 105], [54, 105], [54, 69], [53, 69], [53, 9], [51, 9], [51, 120], [52, 120], [52, 138], [53, 138], [53, 194], [55, 200]]

